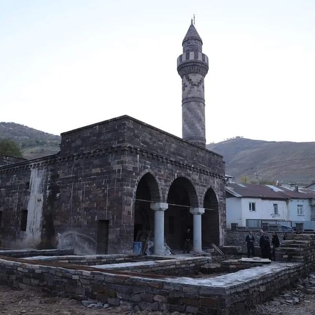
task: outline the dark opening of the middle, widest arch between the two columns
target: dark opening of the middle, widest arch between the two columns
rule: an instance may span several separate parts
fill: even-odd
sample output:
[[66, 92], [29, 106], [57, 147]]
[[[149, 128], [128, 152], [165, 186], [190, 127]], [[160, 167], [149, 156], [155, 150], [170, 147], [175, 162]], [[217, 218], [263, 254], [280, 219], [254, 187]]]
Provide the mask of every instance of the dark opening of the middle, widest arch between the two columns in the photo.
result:
[[187, 227], [192, 233], [192, 215], [189, 210], [198, 207], [198, 197], [192, 182], [185, 176], [177, 177], [167, 190], [168, 209], [164, 216], [164, 234], [171, 249], [184, 248]]

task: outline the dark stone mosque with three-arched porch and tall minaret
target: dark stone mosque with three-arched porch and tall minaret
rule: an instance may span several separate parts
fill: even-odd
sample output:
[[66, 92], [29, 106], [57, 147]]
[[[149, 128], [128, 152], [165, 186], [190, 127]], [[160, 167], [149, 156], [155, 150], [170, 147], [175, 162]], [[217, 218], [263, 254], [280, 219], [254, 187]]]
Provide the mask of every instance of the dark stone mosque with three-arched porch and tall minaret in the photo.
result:
[[0, 246], [129, 253], [150, 231], [163, 254], [164, 242], [183, 249], [187, 227], [194, 252], [224, 245], [224, 162], [205, 149], [208, 57], [193, 24], [177, 70], [183, 139], [121, 116], [63, 132], [55, 155], [0, 166]]

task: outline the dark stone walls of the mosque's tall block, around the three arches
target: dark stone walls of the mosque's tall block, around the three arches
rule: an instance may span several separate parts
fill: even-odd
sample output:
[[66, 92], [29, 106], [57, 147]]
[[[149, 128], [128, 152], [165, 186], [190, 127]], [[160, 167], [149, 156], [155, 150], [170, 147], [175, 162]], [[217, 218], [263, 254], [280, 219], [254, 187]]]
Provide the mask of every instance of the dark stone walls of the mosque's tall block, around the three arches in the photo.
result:
[[[207, 190], [213, 189], [220, 222], [208, 221], [220, 224], [220, 243], [224, 243], [225, 184], [220, 155], [122, 116], [63, 133], [61, 158], [58, 184], [63, 193], [56, 230], [68, 246], [72, 247], [70, 237], [80, 234], [80, 241], [95, 251], [97, 220], [106, 220], [108, 253], [132, 252], [136, 189], [146, 173], [153, 176], [158, 187], [157, 196], [152, 198], [155, 202], [167, 203], [168, 190], [180, 176], [189, 179], [196, 190], [197, 199], [190, 200], [192, 207], [203, 207]], [[87, 224], [82, 225], [82, 221]]]

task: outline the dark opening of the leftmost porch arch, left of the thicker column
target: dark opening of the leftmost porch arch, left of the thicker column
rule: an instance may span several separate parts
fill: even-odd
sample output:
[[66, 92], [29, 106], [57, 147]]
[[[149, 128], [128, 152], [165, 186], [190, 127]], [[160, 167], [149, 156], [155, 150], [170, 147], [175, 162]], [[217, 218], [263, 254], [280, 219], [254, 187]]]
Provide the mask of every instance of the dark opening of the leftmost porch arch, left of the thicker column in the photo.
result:
[[[160, 188], [154, 174], [146, 171], [136, 182], [134, 195], [134, 227], [133, 239], [137, 236], [146, 238], [147, 233], [154, 231], [154, 211], [151, 203], [160, 201]], [[147, 232], [141, 232], [147, 231]], [[142, 235], [142, 236], [141, 236]]]

